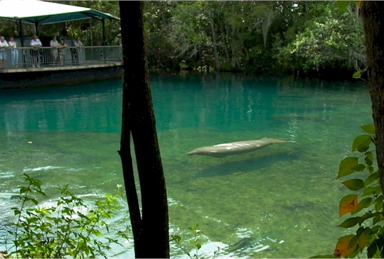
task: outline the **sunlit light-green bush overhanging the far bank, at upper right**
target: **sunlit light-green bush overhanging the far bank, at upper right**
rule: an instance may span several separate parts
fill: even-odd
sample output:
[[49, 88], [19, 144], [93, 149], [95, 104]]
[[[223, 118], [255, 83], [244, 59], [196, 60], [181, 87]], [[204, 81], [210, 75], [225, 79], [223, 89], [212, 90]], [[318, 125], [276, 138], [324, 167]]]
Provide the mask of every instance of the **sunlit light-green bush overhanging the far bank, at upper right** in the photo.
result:
[[284, 69], [305, 73], [330, 67], [362, 71], [366, 66], [362, 22], [358, 10], [338, 13], [334, 3], [314, 10], [317, 15], [306, 22], [306, 30], [280, 48], [277, 59]]

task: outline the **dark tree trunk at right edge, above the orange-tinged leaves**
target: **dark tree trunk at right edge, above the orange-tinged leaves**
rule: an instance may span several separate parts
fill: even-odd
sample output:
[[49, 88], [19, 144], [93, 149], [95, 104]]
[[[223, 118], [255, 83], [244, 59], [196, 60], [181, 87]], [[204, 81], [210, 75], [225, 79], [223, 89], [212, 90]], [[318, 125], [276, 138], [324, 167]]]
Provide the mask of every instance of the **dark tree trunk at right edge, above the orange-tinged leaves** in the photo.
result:
[[376, 155], [384, 193], [384, 2], [362, 1], [372, 116], [376, 127]]

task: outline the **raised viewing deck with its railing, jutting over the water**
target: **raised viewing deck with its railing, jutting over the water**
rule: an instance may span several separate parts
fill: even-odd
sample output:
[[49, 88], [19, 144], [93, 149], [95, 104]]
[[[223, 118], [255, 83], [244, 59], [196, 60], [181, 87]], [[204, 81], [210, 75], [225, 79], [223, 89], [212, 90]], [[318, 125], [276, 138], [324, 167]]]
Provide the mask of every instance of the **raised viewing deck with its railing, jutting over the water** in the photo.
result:
[[123, 75], [121, 46], [83, 47], [81, 50], [68, 47], [62, 65], [60, 59], [55, 59], [53, 48], [41, 48], [38, 59], [30, 54], [31, 48], [18, 48], [17, 65], [11, 63], [11, 50], [7, 51], [6, 62], [0, 69], [0, 89], [85, 83]]

